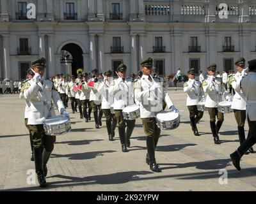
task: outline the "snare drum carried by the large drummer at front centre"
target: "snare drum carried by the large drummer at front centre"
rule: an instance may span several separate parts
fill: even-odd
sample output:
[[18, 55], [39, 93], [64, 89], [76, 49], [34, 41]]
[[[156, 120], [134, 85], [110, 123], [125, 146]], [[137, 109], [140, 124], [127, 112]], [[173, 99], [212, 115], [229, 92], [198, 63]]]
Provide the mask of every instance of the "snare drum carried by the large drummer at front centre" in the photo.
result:
[[180, 114], [177, 112], [163, 111], [156, 115], [158, 128], [175, 129], [180, 125]]

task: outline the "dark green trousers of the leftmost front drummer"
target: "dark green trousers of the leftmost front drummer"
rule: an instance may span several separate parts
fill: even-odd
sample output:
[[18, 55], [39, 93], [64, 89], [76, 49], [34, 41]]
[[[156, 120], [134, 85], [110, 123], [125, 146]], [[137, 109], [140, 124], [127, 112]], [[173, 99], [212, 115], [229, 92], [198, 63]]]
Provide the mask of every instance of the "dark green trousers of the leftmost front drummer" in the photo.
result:
[[33, 140], [36, 173], [42, 173], [43, 150], [45, 149], [47, 152], [52, 152], [54, 149], [54, 142], [56, 142], [56, 136], [45, 135], [43, 124], [28, 125], [28, 129]]

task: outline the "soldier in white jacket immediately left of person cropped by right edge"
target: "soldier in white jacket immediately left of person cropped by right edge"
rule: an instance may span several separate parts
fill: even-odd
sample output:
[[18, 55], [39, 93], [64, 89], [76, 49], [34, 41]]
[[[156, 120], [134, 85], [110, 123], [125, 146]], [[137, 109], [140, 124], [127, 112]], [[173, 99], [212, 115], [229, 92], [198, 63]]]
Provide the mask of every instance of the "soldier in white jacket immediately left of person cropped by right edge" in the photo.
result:
[[[241, 89], [241, 80], [242, 78], [247, 75], [245, 72], [245, 59], [241, 57], [236, 61], [236, 69], [237, 73], [233, 77], [228, 78], [229, 84], [232, 85], [232, 88], [235, 90], [236, 94], [233, 97], [232, 105], [231, 108], [234, 110], [234, 115], [236, 118], [237, 122], [237, 129], [238, 129], [238, 135], [239, 135], [239, 142], [240, 145], [245, 140], [245, 135], [244, 135], [244, 122], [246, 120], [246, 98], [244, 95], [243, 90]], [[250, 136], [248, 134], [248, 136]], [[253, 152], [253, 149], [249, 149], [250, 152]], [[248, 152], [249, 153], [249, 152]]]

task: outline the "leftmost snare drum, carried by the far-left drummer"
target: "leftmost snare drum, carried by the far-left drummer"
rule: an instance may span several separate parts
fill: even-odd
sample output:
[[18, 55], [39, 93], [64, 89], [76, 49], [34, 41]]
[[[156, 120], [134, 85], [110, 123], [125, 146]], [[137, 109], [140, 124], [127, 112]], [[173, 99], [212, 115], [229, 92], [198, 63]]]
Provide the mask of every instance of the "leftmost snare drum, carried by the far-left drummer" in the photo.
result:
[[61, 135], [68, 133], [71, 129], [70, 119], [63, 115], [49, 117], [44, 121], [45, 135]]

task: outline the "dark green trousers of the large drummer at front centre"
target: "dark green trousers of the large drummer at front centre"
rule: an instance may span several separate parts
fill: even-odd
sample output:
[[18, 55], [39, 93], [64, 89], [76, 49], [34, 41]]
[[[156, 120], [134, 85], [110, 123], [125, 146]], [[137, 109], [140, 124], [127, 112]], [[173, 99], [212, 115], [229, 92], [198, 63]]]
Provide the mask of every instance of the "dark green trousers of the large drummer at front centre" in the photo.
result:
[[147, 157], [150, 163], [156, 163], [155, 150], [161, 129], [157, 127], [155, 117], [148, 117], [141, 120], [144, 132], [147, 136]]

